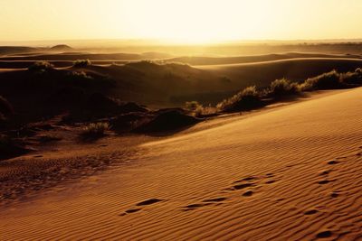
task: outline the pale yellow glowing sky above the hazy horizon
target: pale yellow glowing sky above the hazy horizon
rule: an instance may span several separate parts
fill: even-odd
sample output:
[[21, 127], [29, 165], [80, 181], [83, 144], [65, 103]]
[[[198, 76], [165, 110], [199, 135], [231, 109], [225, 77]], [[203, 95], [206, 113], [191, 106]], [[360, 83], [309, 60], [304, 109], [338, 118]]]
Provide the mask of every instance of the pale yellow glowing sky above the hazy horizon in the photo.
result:
[[362, 38], [362, 0], [0, 0], [0, 42]]

